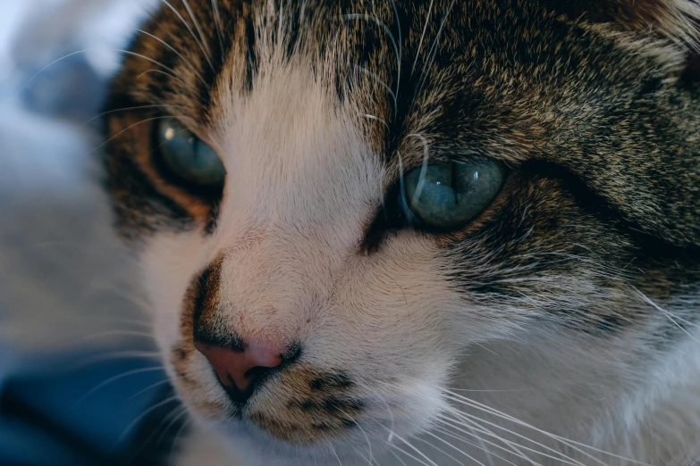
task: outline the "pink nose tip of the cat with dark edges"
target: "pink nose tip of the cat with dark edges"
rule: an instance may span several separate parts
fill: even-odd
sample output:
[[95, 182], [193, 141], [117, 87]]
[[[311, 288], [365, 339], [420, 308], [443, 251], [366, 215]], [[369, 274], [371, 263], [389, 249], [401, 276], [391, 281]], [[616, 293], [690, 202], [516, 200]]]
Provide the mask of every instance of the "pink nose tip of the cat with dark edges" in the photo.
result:
[[240, 396], [249, 392], [256, 379], [283, 362], [280, 351], [256, 342], [246, 343], [243, 351], [236, 351], [195, 340], [195, 348], [209, 360], [223, 387]]

